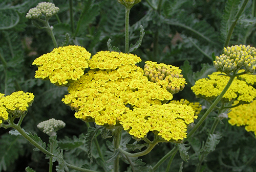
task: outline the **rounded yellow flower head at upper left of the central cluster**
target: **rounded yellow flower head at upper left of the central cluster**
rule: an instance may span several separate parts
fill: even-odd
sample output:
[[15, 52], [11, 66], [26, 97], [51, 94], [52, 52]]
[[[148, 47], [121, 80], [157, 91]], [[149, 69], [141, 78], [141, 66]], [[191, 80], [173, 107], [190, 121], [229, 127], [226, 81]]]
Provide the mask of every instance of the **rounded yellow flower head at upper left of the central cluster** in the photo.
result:
[[54, 48], [51, 53], [38, 57], [32, 63], [38, 67], [35, 78], [50, 80], [57, 86], [65, 86], [84, 74], [90, 58], [91, 54], [81, 46]]

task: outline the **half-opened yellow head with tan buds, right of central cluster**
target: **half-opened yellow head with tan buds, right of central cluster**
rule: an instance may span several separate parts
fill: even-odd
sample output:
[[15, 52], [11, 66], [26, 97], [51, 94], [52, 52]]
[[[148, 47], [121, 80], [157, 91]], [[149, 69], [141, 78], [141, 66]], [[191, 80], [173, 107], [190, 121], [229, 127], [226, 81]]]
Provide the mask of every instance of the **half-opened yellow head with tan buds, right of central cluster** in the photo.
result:
[[149, 81], [158, 83], [161, 87], [167, 89], [170, 93], [175, 94], [182, 91], [186, 81], [181, 75], [179, 67], [146, 61], [144, 66], [144, 75]]

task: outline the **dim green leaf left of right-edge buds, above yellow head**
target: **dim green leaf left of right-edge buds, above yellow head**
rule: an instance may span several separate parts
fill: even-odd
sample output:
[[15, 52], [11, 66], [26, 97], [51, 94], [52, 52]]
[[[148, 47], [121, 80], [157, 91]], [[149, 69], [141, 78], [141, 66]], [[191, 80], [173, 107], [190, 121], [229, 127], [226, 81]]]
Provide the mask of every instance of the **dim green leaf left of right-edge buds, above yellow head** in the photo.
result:
[[193, 73], [193, 79], [195, 81], [202, 79], [202, 78], [207, 78], [208, 75], [217, 71], [213, 65], [202, 64], [201, 66], [202, 66], [202, 69], [200, 71]]

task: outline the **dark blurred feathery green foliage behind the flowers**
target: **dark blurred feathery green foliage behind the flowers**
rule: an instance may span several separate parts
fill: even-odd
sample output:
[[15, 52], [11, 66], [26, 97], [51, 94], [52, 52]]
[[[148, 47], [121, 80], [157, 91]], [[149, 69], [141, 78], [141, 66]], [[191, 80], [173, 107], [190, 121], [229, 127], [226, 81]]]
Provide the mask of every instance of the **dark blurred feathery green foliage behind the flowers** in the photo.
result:
[[[6, 95], [17, 90], [33, 92], [35, 101], [23, 122], [26, 131], [37, 133], [45, 142], [48, 137], [36, 128], [43, 120], [50, 118], [66, 122], [65, 129], [58, 133], [62, 142], [83, 138], [87, 126], [74, 117], [74, 111], [61, 102], [66, 87], [56, 87], [48, 81], [35, 79], [36, 66], [32, 62], [42, 54], [53, 50], [51, 37], [44, 29], [38, 29], [26, 19], [26, 13], [35, 7], [38, 0], [0, 1], [0, 92]], [[117, 1], [74, 0], [49, 1], [59, 7], [58, 14], [50, 19], [59, 45], [72, 44], [85, 47], [92, 55], [108, 50], [106, 42], [124, 52], [125, 9]], [[161, 2], [161, 3], [159, 3]], [[141, 46], [133, 54], [142, 62], [151, 60], [158, 63], [179, 66], [186, 78], [185, 89], [174, 95], [175, 100], [200, 101], [204, 110], [209, 104], [197, 100], [190, 87], [200, 78], [215, 71], [212, 61], [222, 53], [232, 24], [236, 27], [228, 45], [245, 44], [255, 46], [255, 1], [249, 1], [239, 18], [236, 15], [244, 1], [239, 0], [142, 0], [130, 12], [130, 43], [139, 39], [140, 25], [145, 36]], [[73, 9], [71, 13], [70, 9]], [[71, 15], [73, 17], [71, 17]], [[69, 34], [69, 39], [66, 34]], [[204, 111], [203, 110], [203, 111]], [[200, 127], [190, 140], [190, 160], [184, 162], [182, 171], [194, 171], [198, 163], [199, 150], [207, 138], [207, 131], [214, 121], [215, 112]], [[199, 115], [200, 116], [200, 115]], [[255, 136], [242, 127], [230, 126], [227, 119], [218, 126], [216, 150], [208, 155], [202, 166], [204, 171], [242, 171], [240, 168], [256, 152]], [[93, 126], [93, 125], [92, 125]], [[0, 171], [25, 171], [27, 166], [37, 172], [48, 169], [44, 154], [33, 151], [32, 146], [21, 136], [12, 136], [8, 130], [0, 129]], [[81, 134], [84, 135], [81, 135]], [[106, 151], [105, 140], [97, 137], [102, 150]], [[81, 145], [82, 146], [82, 145]], [[154, 165], [169, 150], [171, 143], [161, 143], [154, 150], [141, 157], [143, 162]], [[94, 149], [94, 148], [93, 148]], [[93, 154], [93, 150], [92, 150]], [[97, 157], [96, 157], [97, 158]], [[87, 151], [75, 149], [65, 152], [69, 163], [88, 163]], [[97, 161], [96, 161], [97, 162]], [[171, 171], [179, 171], [182, 159], [176, 155]], [[157, 171], [164, 171], [167, 161]], [[103, 170], [95, 162], [92, 169]], [[122, 164], [122, 171], [126, 170]], [[256, 163], [246, 171], [256, 170]]]

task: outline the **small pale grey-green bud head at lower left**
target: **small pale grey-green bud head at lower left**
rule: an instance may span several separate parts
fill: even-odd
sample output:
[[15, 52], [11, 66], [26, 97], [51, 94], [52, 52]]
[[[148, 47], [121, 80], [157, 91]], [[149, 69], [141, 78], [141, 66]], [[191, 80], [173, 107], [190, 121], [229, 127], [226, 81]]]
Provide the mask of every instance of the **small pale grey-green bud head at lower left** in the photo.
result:
[[62, 120], [54, 118], [40, 122], [37, 128], [49, 136], [55, 136], [56, 132], [66, 126]]

